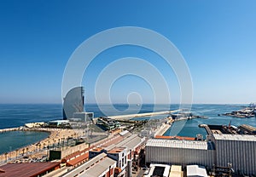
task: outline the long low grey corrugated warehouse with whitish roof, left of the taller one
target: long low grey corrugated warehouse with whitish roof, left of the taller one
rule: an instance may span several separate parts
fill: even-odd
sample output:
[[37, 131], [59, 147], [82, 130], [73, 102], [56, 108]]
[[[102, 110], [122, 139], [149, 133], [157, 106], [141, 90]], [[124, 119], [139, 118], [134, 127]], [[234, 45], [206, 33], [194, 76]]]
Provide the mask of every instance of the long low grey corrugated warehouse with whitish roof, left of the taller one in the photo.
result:
[[146, 163], [200, 164], [212, 168], [216, 162], [212, 142], [150, 139], [146, 144]]

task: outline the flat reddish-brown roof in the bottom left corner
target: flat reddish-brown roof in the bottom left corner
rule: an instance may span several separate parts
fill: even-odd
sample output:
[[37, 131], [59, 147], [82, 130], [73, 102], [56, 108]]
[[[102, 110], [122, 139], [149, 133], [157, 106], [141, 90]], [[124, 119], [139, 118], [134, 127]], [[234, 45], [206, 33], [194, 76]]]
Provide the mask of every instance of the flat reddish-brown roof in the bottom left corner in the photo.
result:
[[7, 163], [0, 168], [0, 177], [38, 177], [59, 169], [60, 163]]

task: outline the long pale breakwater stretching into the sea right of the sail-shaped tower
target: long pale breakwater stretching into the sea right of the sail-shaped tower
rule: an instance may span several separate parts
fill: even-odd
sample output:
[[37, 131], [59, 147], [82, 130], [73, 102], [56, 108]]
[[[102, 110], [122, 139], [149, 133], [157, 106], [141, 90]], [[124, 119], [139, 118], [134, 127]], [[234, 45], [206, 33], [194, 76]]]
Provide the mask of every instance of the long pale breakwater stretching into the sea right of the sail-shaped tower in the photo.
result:
[[157, 115], [164, 115], [164, 114], [172, 114], [173, 112], [177, 112], [180, 110], [172, 110], [172, 111], [154, 111], [154, 112], [146, 112], [146, 113], [138, 113], [138, 114], [127, 114], [127, 115], [119, 115], [119, 116], [109, 116], [109, 118], [115, 119], [115, 120], [129, 120], [131, 118], [136, 117], [151, 117], [151, 116], [157, 116]]

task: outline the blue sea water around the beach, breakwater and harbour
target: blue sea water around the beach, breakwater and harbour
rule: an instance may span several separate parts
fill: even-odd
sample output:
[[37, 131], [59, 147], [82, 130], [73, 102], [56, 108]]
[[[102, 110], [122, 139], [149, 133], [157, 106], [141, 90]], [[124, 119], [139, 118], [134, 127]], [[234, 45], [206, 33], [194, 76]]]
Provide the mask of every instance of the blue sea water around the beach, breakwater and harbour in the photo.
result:
[[[205, 116], [204, 118], [196, 118], [191, 120], [184, 120], [175, 122], [172, 128], [168, 129], [164, 135], [178, 135], [195, 137], [196, 134], [202, 134], [206, 137], [207, 132], [204, 128], [199, 128], [201, 123], [205, 124], [225, 124], [229, 123], [235, 126], [241, 124], [249, 124], [256, 127], [256, 118], [237, 118], [219, 116], [225, 112], [237, 111], [247, 105], [202, 105], [195, 104], [191, 111], [194, 115]], [[85, 111], [94, 112], [95, 117], [113, 116], [120, 114], [134, 114], [144, 113], [150, 111], [166, 111], [177, 110], [179, 105], [97, 105], [86, 104]], [[160, 119], [167, 115], [160, 115], [154, 117], [142, 117], [137, 119]], [[61, 104], [0, 104], [0, 128], [17, 128], [24, 126], [25, 123], [48, 122], [50, 120], [62, 119]], [[179, 131], [172, 131], [175, 127], [181, 127]], [[45, 132], [5, 132], [0, 133], [0, 154], [7, 151], [14, 151], [22, 146], [27, 146], [43, 140], [49, 136]]]

